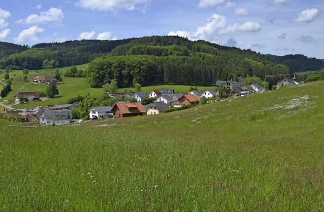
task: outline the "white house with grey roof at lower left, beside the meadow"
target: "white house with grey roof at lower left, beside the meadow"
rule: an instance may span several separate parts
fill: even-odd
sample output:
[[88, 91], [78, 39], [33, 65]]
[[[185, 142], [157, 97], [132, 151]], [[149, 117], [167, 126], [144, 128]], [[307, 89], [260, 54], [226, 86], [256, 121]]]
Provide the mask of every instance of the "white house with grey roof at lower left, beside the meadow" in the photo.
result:
[[51, 110], [43, 108], [36, 113], [41, 125], [64, 125], [71, 123], [72, 112], [71, 110]]

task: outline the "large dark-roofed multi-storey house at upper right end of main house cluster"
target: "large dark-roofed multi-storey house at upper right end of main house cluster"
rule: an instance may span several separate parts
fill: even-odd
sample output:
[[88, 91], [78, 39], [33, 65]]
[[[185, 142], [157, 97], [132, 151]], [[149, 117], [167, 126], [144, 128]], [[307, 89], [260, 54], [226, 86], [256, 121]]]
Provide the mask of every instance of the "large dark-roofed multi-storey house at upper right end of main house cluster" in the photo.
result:
[[[253, 90], [252, 87], [249, 86], [246, 82], [237, 82], [233, 80], [217, 81], [215, 85], [218, 88], [216, 92], [217, 95], [223, 97], [238, 97], [240, 96], [241, 92], [252, 92]], [[222, 94], [219, 93], [221, 87], [224, 88]]]

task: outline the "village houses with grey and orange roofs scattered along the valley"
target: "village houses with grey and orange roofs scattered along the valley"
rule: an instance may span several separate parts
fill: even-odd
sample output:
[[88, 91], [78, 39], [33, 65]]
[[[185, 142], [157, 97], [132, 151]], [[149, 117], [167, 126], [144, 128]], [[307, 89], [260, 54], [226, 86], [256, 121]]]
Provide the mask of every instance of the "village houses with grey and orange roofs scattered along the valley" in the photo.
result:
[[[52, 76], [37, 76], [34, 83], [59, 83]], [[276, 89], [281, 86], [292, 86], [300, 84], [303, 81], [297, 81], [294, 76], [293, 80], [288, 78], [282, 79], [276, 84]], [[189, 93], [177, 94], [173, 89], [152, 90], [149, 94], [145, 92], [128, 92], [128, 93], [110, 93], [110, 97], [129, 97], [135, 98], [136, 102], [118, 101], [113, 106], [93, 107], [89, 110], [89, 120], [107, 119], [107, 118], [125, 118], [142, 115], [156, 115], [164, 113], [172, 107], [182, 107], [184, 105], [197, 105], [202, 100], [203, 104], [207, 102], [216, 102], [226, 98], [246, 97], [250, 94], [263, 93], [265, 88], [257, 83], [247, 84], [246, 82], [237, 82], [235, 80], [216, 81], [216, 89], [206, 91], [192, 90]], [[143, 104], [144, 99], [154, 98], [149, 104]], [[42, 97], [37, 92], [18, 92], [15, 100], [10, 103], [28, 103], [41, 101]], [[8, 101], [6, 101], [8, 102]], [[25, 108], [24, 110], [4, 108], [3, 115], [20, 115], [21, 121], [31, 125], [64, 125], [70, 123], [80, 123], [84, 120], [73, 119], [72, 109], [77, 106], [78, 102], [64, 105], [47, 105], [45, 107], [37, 106], [35, 108]]]

